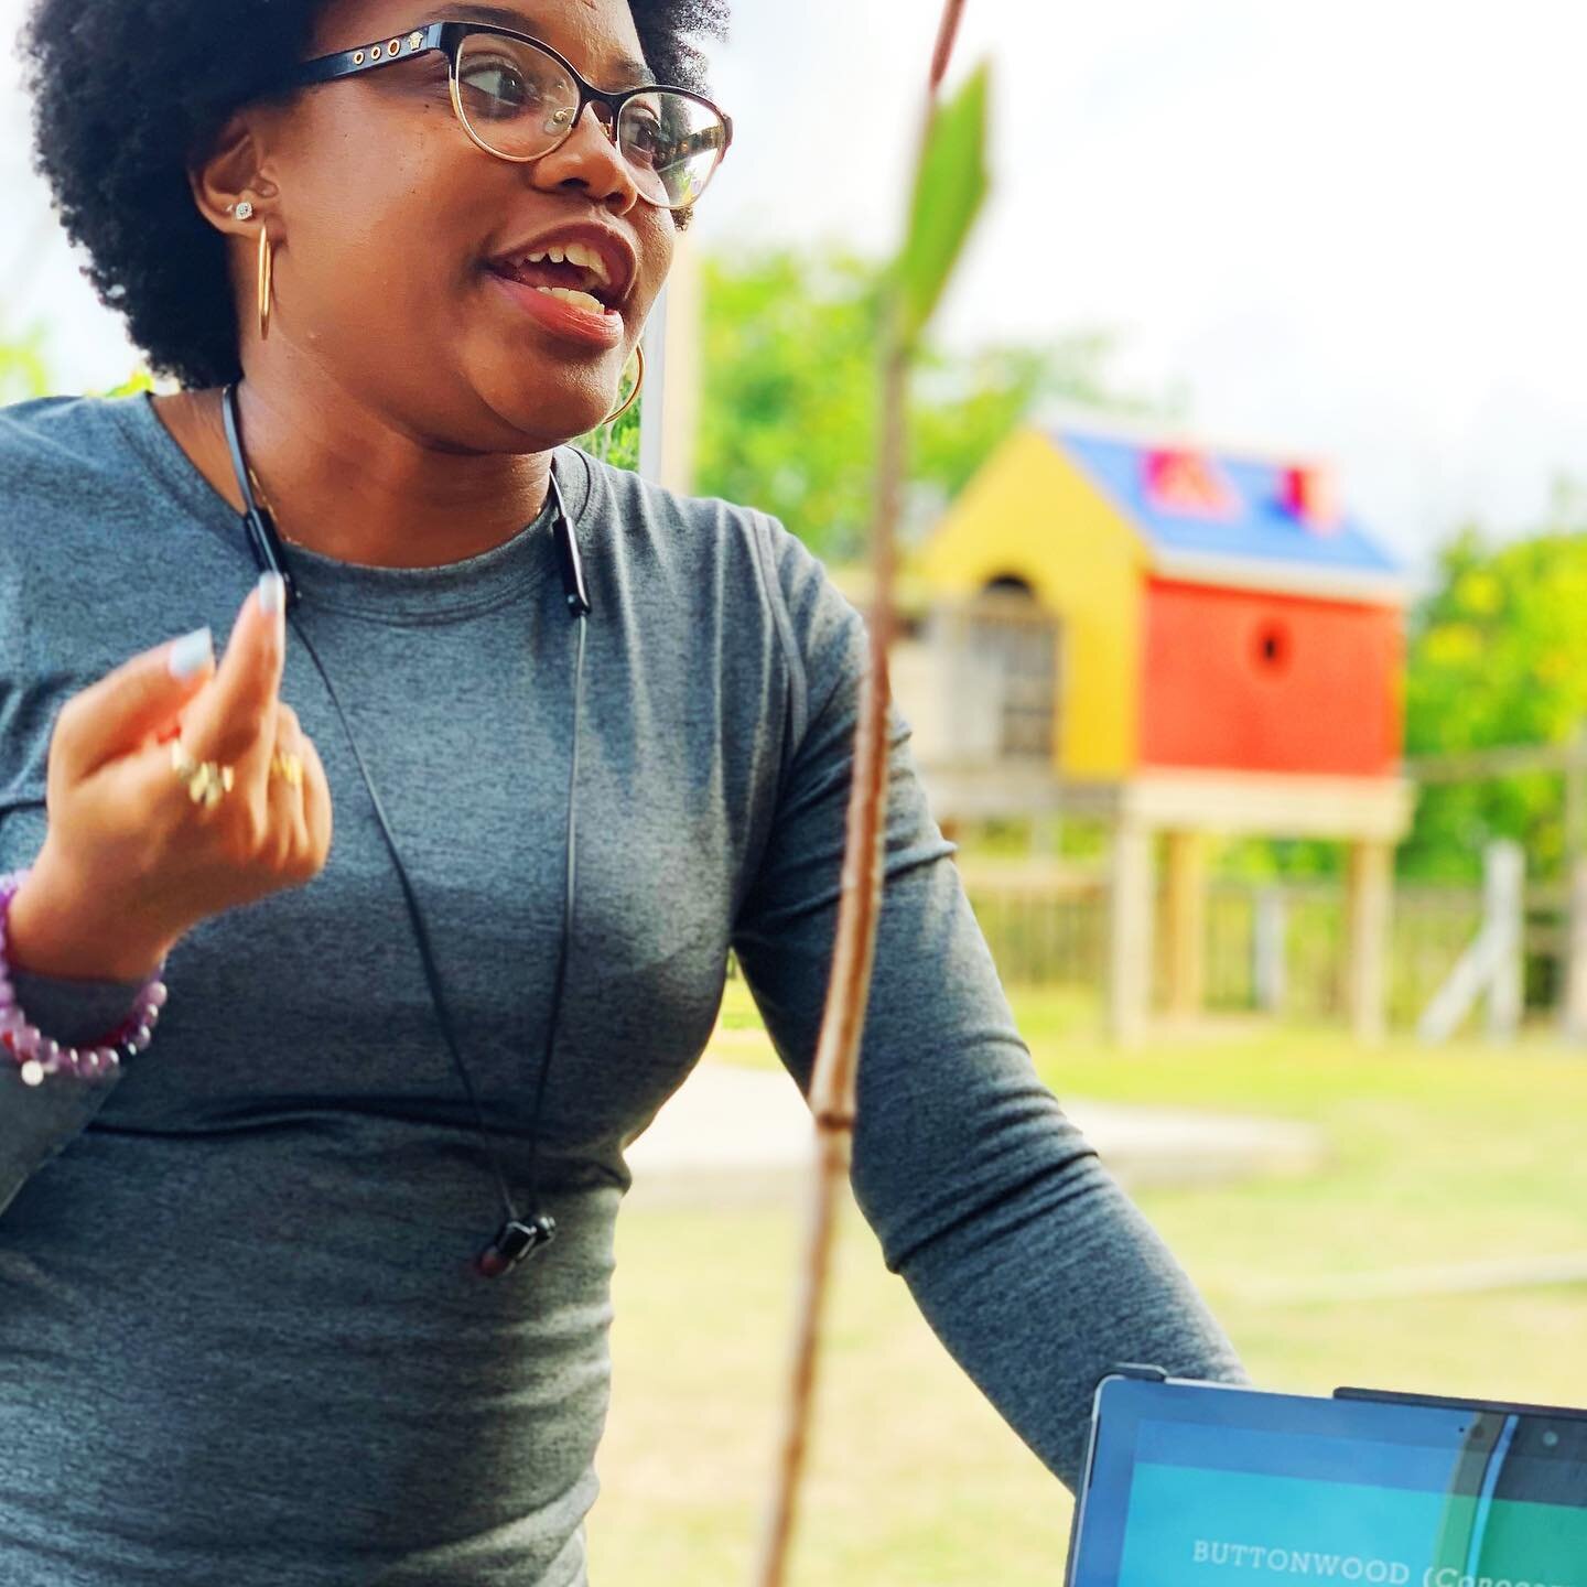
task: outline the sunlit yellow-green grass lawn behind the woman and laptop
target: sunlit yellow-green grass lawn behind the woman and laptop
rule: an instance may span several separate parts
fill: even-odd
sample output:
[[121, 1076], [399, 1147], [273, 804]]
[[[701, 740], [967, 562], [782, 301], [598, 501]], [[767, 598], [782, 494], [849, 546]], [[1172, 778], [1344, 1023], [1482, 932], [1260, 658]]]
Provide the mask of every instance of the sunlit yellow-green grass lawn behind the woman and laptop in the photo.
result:
[[[1258, 1382], [1587, 1404], [1587, 1284], [1439, 1293], [1422, 1270], [1587, 1255], [1587, 1055], [1549, 1041], [1358, 1052], [1230, 1028], [1117, 1054], [1073, 997], [1016, 995], [1059, 1097], [1303, 1119], [1301, 1179], [1139, 1197]], [[717, 1057], [767, 1063], [735, 984]], [[594, 1579], [746, 1581], [779, 1414], [798, 1209], [635, 1205], [617, 1230], [616, 1385]], [[1409, 1293], [1352, 1298], [1363, 1276]], [[1054, 1587], [1068, 1501], [968, 1384], [851, 1217], [794, 1581]]]

